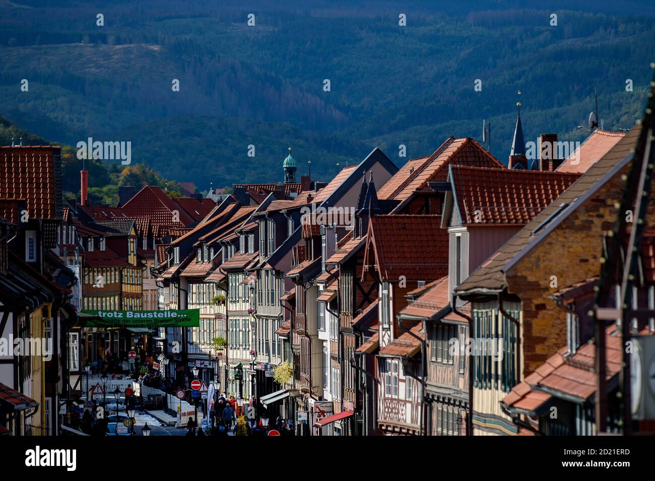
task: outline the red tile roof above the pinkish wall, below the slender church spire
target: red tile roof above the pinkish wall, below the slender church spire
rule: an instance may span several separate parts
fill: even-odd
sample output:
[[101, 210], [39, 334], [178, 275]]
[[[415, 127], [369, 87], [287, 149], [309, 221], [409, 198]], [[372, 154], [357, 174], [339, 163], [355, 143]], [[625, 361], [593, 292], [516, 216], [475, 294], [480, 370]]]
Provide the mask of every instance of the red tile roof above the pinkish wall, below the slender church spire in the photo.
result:
[[483, 226], [529, 223], [580, 174], [450, 166], [449, 177], [462, 224]]

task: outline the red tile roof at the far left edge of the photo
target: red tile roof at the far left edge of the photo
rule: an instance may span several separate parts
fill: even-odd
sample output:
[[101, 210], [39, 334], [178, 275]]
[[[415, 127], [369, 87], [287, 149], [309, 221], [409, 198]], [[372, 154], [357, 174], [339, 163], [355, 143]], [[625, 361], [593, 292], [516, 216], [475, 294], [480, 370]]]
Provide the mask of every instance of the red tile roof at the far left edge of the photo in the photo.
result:
[[0, 147], [0, 200], [24, 199], [30, 219], [62, 218], [61, 147]]

